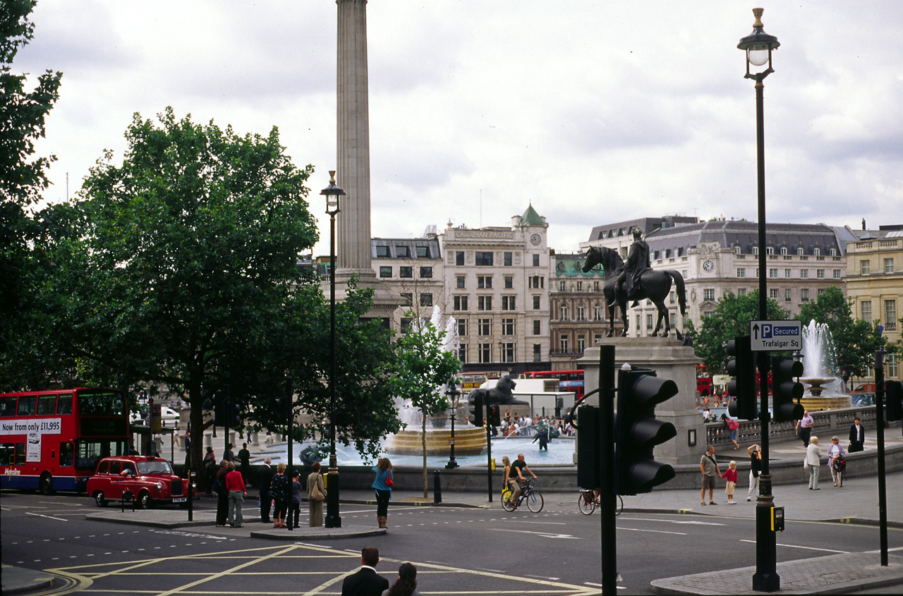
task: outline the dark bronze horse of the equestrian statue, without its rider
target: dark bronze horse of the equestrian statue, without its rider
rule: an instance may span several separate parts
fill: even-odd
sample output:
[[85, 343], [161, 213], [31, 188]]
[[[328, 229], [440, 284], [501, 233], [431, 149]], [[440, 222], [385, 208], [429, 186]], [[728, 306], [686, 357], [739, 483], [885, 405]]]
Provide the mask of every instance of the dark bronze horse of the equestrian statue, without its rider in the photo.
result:
[[[596, 265], [602, 265], [605, 270], [605, 283], [602, 285], [602, 291], [605, 293], [605, 302], [608, 304], [610, 328], [606, 337], [614, 335], [615, 331], [615, 284], [618, 274], [624, 266], [624, 260], [617, 251], [609, 247], [590, 247], [586, 251], [586, 261], [583, 263], [583, 273], [587, 273]], [[662, 321], [665, 321], [664, 337], [668, 336], [671, 331], [671, 321], [668, 320], [668, 307], [665, 305], [665, 299], [671, 292], [672, 281], [677, 290], [677, 303], [680, 305], [681, 316], [686, 315], [686, 292], [684, 291], [684, 276], [679, 272], [669, 269], [667, 271], [656, 271], [655, 269], [647, 269], [639, 277], [638, 292], [629, 300], [649, 299], [656, 305], [658, 309], [658, 322], [656, 322], [656, 331], [652, 332], [653, 337], [658, 335], [658, 331], [662, 327]], [[621, 321], [624, 322], [624, 331], [621, 331], [621, 337], [627, 335], [628, 318], [627, 303], [628, 299], [623, 292], [619, 292], [619, 302], [617, 305], [621, 310]], [[683, 339], [683, 334], [675, 330], [678, 340]]]

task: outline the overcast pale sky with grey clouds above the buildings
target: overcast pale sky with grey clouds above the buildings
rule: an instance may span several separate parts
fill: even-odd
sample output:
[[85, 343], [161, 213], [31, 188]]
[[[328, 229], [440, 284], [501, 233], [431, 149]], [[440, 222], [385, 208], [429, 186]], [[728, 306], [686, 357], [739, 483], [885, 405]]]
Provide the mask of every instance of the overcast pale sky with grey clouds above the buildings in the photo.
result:
[[[756, 2], [371, 0], [372, 232], [508, 226], [533, 204], [549, 245], [666, 214], [757, 220], [754, 83], [737, 49]], [[14, 72], [63, 72], [42, 154], [74, 197], [139, 112], [279, 128], [336, 166], [333, 0], [39, 0]], [[768, 221], [903, 223], [903, 10], [893, 0], [771, 3]]]

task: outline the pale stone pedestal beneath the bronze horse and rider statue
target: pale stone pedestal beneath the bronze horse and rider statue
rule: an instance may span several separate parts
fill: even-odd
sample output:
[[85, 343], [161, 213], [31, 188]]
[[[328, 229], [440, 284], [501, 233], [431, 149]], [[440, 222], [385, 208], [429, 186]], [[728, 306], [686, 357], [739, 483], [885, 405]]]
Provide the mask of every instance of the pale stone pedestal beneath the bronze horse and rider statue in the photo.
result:
[[[634, 368], [655, 370], [656, 377], [675, 382], [677, 395], [656, 405], [656, 419], [674, 424], [677, 436], [656, 446], [656, 461], [671, 465], [698, 464], [705, 452], [705, 427], [696, 410], [696, 365], [702, 360], [696, 358], [693, 348], [679, 340], [663, 338], [605, 338], [600, 343], [615, 346], [617, 368], [626, 362]], [[586, 349], [583, 358], [578, 360], [585, 370], [583, 382], [587, 392], [599, 387], [599, 351], [599, 348]], [[617, 378], [616, 374], [616, 383]], [[599, 405], [596, 396], [588, 400], [591, 405]], [[616, 411], [617, 408], [615, 400]]]

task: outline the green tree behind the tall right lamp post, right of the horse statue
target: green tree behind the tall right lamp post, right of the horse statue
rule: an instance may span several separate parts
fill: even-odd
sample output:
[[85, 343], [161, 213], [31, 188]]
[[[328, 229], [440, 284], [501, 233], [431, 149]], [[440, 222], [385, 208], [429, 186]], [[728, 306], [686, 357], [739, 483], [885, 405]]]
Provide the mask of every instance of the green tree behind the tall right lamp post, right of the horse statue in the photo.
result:
[[[768, 299], [768, 319], [787, 319], [787, 311], [773, 299]], [[726, 293], [721, 296], [711, 316], [703, 318], [699, 330], [693, 331], [694, 351], [703, 359], [710, 373], [723, 372], [728, 363], [727, 342], [735, 337], [749, 335], [749, 321], [759, 320], [759, 291], [738, 296]]]

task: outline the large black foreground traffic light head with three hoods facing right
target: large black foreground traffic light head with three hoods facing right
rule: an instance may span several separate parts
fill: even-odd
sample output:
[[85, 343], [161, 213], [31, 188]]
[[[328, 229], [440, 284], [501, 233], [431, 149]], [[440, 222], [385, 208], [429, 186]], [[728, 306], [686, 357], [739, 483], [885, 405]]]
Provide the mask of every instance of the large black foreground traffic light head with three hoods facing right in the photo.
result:
[[651, 492], [675, 477], [675, 470], [655, 461], [656, 445], [677, 436], [675, 425], [656, 420], [656, 405], [677, 395], [672, 380], [652, 370], [618, 371], [615, 417], [615, 487], [619, 495]]

